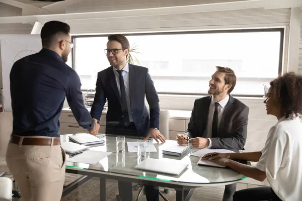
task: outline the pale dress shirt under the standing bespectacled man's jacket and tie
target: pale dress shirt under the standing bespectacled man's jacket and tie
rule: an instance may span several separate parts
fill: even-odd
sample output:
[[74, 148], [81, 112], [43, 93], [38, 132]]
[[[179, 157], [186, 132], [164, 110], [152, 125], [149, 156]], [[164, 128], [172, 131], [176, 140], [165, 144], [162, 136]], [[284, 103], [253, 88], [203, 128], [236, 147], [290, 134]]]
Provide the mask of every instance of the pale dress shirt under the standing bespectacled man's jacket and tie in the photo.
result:
[[[115, 74], [115, 80], [116, 85], [118, 88], [118, 92], [121, 96], [121, 88], [119, 84], [119, 73], [116, 72], [117, 69], [113, 67], [113, 72]], [[125, 85], [125, 91], [126, 91], [126, 101], [127, 101], [127, 107], [128, 107], [128, 114], [129, 114], [129, 120], [130, 122], [133, 122], [132, 114], [131, 114], [131, 104], [130, 104], [130, 87], [129, 87], [129, 64], [126, 62], [126, 65], [122, 69], [122, 75], [124, 78], [124, 85]]]

